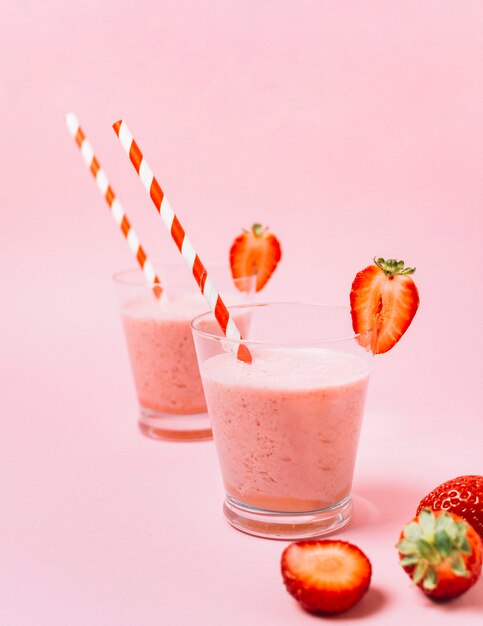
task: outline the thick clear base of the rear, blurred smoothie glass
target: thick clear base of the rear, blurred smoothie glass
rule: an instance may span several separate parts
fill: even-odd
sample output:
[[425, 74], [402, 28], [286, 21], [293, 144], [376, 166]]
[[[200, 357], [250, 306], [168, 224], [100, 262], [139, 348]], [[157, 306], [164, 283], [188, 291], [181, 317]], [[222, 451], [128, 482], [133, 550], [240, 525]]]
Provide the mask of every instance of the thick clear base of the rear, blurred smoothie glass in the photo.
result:
[[204, 441], [213, 439], [208, 413], [175, 415], [140, 408], [139, 430], [150, 439]]

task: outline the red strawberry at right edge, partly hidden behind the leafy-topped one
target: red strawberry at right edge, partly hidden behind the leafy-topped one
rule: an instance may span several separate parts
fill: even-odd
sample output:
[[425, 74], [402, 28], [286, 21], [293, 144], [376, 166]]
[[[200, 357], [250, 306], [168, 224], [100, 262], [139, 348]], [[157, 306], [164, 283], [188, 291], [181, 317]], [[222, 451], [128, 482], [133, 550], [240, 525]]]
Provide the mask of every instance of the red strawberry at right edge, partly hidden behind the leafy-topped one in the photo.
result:
[[483, 541], [483, 476], [458, 476], [433, 489], [419, 504], [421, 509], [450, 511], [473, 526]]

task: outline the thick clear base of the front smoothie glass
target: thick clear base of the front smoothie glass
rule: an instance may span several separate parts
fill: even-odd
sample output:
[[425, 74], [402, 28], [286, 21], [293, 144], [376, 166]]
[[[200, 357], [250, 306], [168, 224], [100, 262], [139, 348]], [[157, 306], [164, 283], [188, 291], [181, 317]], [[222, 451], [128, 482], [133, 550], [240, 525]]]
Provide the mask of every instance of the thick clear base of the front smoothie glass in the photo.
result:
[[350, 496], [333, 507], [306, 513], [253, 509], [229, 496], [223, 503], [223, 513], [234, 528], [268, 539], [308, 539], [333, 533], [350, 522], [353, 510]]

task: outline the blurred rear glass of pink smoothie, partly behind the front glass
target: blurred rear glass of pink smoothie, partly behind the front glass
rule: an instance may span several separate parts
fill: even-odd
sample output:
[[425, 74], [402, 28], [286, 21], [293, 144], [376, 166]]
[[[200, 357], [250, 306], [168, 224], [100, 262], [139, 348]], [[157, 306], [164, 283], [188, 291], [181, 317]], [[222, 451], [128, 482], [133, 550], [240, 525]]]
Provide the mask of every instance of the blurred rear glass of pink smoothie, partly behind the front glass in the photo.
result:
[[[222, 293], [228, 303], [250, 301], [256, 276], [233, 281], [228, 268], [226, 273], [221, 266], [210, 271], [217, 276], [220, 289], [225, 287]], [[146, 283], [141, 270], [118, 272], [114, 281], [139, 401], [141, 432], [153, 439], [211, 439], [190, 328], [191, 319], [206, 312], [208, 305], [189, 271], [184, 266], [165, 268], [160, 298], [155, 297], [155, 285]], [[208, 322], [209, 328], [215, 325]]]

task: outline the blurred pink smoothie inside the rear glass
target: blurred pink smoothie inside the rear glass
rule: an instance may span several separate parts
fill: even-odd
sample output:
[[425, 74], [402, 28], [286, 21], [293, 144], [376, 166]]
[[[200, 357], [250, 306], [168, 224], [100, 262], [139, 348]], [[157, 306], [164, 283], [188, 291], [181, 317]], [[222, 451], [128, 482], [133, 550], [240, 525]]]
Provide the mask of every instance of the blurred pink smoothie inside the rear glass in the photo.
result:
[[206, 308], [196, 293], [124, 305], [124, 331], [143, 409], [173, 414], [206, 411], [190, 327], [190, 320]]

